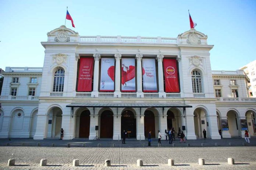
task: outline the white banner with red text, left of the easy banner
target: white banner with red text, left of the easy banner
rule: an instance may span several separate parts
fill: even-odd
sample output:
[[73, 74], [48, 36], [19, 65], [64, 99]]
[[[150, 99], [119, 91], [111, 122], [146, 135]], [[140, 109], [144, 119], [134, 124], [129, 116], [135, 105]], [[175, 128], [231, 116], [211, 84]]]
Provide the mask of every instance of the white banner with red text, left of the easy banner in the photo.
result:
[[142, 59], [143, 92], [157, 92], [156, 59]]

